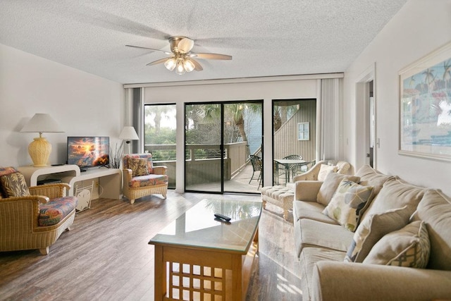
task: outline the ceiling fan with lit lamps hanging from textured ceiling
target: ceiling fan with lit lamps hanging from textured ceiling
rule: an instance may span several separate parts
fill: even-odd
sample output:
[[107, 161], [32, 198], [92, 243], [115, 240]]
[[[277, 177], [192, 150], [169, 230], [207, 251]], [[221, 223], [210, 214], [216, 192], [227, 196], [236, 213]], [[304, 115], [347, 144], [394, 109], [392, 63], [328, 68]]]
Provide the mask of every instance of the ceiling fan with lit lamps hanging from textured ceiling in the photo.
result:
[[171, 56], [152, 61], [147, 64], [147, 66], [156, 65], [157, 63], [164, 63], [164, 66], [170, 71], [175, 69], [175, 73], [182, 75], [186, 72], [191, 72], [192, 70], [202, 71], [204, 68], [196, 59], [216, 59], [216, 60], [231, 60], [232, 56], [226, 54], [196, 54], [190, 52], [192, 47], [194, 47], [194, 41], [189, 37], [175, 36], [169, 38], [169, 43], [171, 44], [171, 52], [164, 51], [160, 49], [152, 49], [147, 47], [125, 45], [127, 47], [135, 47], [140, 49], [149, 49], [152, 51], [160, 51]]

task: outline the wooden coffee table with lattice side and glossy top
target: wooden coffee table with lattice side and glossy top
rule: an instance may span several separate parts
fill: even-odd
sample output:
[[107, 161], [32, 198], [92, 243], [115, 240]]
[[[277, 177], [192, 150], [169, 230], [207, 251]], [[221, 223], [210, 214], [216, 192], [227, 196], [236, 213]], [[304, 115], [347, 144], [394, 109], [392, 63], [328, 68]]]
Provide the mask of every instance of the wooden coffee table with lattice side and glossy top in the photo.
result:
[[261, 202], [204, 199], [155, 235], [155, 300], [245, 300], [260, 215]]

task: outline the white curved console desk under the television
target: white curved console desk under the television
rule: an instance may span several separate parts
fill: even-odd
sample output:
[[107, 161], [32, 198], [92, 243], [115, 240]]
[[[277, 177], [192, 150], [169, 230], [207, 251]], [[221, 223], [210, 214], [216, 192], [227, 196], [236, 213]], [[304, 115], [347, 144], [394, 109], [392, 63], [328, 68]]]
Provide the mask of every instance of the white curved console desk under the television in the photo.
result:
[[65, 164], [61, 166], [19, 166], [18, 171], [23, 174], [28, 186], [37, 185], [38, 180], [57, 179], [70, 185], [68, 195], [74, 195], [75, 183], [82, 180], [99, 178], [99, 185], [104, 188], [101, 197], [108, 199], [121, 199], [122, 171], [118, 168], [89, 168], [80, 172], [76, 165]]

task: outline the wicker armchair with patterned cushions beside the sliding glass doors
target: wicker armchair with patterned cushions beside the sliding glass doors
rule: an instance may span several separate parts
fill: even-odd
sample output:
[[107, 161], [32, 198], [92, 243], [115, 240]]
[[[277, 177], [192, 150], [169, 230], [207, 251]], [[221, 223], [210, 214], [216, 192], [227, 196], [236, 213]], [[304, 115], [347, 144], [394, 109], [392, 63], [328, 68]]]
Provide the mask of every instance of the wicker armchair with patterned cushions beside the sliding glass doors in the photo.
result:
[[147, 195], [162, 195], [166, 199], [166, 169], [166, 166], [153, 165], [152, 154], [126, 154], [123, 156], [123, 195], [130, 199], [130, 204]]

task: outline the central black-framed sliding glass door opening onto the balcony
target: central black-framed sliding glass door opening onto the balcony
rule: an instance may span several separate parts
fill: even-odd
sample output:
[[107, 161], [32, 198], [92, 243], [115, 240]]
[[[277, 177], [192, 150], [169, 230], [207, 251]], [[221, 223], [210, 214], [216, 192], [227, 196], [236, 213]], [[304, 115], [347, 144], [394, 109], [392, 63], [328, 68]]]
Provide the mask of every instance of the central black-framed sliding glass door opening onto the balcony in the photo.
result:
[[261, 101], [185, 104], [185, 190], [259, 192], [261, 116]]

